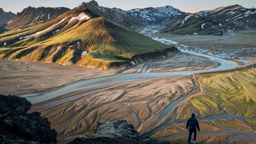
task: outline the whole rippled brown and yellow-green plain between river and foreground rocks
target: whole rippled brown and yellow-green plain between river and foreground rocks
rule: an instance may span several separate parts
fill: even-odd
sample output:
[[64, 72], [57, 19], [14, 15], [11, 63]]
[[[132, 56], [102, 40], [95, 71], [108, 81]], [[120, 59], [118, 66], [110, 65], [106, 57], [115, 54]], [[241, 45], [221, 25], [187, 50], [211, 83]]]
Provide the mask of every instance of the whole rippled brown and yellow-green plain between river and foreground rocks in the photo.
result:
[[[50, 119], [61, 141], [91, 134], [100, 120], [126, 119], [144, 136], [180, 143], [186, 141], [186, 119], [195, 112], [201, 124], [199, 143], [216, 143], [216, 139], [218, 143], [255, 142], [256, 107], [249, 105], [255, 102], [255, 70], [169, 76], [83, 89], [33, 104], [32, 111]], [[220, 87], [213, 87], [218, 84]]]

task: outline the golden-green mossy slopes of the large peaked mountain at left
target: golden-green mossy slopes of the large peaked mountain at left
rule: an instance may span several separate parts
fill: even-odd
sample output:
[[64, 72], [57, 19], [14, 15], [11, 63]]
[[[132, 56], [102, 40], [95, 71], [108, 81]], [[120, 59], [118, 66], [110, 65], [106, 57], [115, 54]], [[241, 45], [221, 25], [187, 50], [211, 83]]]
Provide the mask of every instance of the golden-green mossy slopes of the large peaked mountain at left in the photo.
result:
[[[68, 18], [61, 25], [55, 25], [64, 18], [62, 17], [33, 25], [32, 28], [26, 30], [17, 31], [14, 29], [0, 35], [3, 37], [0, 39], [0, 44], [5, 41], [12, 42], [10, 48], [5, 48], [3, 51], [0, 48], [1, 58], [23, 57], [23, 59], [32, 61], [52, 61], [61, 64], [71, 60], [73, 63], [79, 62], [77, 65], [90, 66], [91, 63], [89, 62], [92, 62], [93, 66], [106, 67], [112, 62], [123, 62], [115, 56], [129, 59], [134, 55], [162, 51], [170, 47], [145, 35], [114, 25], [102, 17], [87, 22], [81, 20], [79, 23], [70, 24], [73, 27], [69, 27], [66, 31], [59, 31], [52, 35], [56, 29], [68, 25]], [[55, 27], [51, 27], [52, 25]], [[49, 27], [51, 28], [49, 29]], [[20, 40], [20, 37], [32, 35], [38, 31], [43, 32], [34, 37]], [[78, 42], [79, 44], [77, 44]], [[12, 46], [14, 47], [12, 48]], [[61, 46], [61, 49], [52, 53], [51, 48], [58, 46]], [[89, 51], [87, 54], [89, 57], [87, 59], [83, 57], [81, 60], [83, 51]]]

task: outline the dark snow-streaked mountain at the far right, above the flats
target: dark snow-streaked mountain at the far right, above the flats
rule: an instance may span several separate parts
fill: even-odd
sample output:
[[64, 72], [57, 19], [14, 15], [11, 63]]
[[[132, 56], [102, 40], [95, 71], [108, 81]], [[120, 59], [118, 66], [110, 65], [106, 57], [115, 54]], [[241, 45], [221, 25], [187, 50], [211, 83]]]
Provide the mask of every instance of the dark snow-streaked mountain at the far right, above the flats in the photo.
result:
[[230, 5], [195, 14], [183, 14], [165, 25], [162, 32], [182, 35], [223, 35], [227, 31], [256, 28], [256, 9]]

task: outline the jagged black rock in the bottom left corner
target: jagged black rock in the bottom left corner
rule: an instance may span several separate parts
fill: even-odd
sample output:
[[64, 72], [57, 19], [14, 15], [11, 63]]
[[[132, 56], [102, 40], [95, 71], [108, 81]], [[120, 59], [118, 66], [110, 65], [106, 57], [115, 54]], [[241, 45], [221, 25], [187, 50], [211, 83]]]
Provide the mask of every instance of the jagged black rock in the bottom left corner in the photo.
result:
[[0, 95], [0, 143], [57, 143], [57, 132], [40, 113], [27, 113], [31, 102], [26, 98]]

